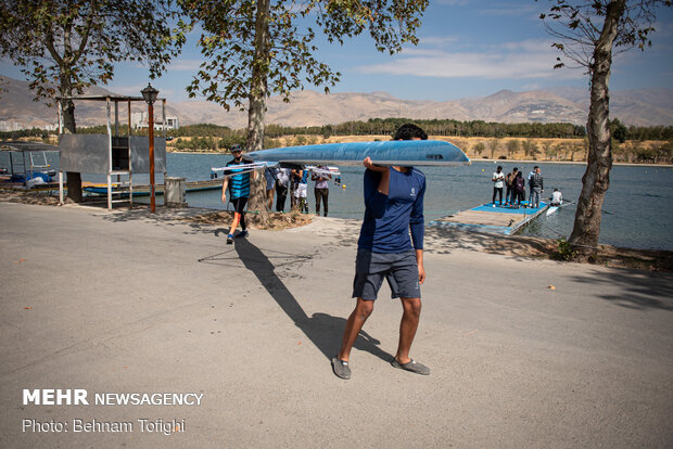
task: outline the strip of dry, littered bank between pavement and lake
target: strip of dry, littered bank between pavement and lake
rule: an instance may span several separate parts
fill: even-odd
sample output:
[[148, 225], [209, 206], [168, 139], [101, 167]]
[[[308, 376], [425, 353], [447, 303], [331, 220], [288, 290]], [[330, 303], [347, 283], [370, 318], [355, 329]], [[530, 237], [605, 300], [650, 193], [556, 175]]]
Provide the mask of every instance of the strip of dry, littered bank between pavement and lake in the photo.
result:
[[[0, 190], [0, 203], [58, 206], [59, 200], [55, 196], [40, 194], [39, 192]], [[131, 214], [148, 216], [162, 221], [181, 220], [198, 223], [199, 226], [221, 226], [221, 223], [228, 222], [232, 218], [232, 211], [195, 207], [166, 208], [157, 205], [157, 214], [154, 216], [149, 214], [149, 207], [138, 205], [132, 209], [117, 207], [113, 211], [107, 211], [107, 209], [100, 206], [79, 205], [66, 200], [65, 207], [86, 207], [111, 216]], [[255, 223], [255, 216], [251, 215], [249, 219], [251, 229], [271, 232], [297, 232], [296, 230], [303, 229], [319, 235], [348, 239], [350, 243], [354, 243], [357, 241], [361, 223], [361, 220], [356, 218], [326, 218], [313, 214], [271, 213], [271, 217], [272, 220], [269, 228], [259, 228]], [[427, 254], [444, 254], [464, 249], [529, 259], [563, 261], [558, 253], [558, 241], [556, 239], [529, 235], [499, 235], [461, 229], [426, 227]], [[600, 244], [598, 259], [587, 265], [650, 272], [671, 272], [673, 271], [673, 251], [639, 249]]]

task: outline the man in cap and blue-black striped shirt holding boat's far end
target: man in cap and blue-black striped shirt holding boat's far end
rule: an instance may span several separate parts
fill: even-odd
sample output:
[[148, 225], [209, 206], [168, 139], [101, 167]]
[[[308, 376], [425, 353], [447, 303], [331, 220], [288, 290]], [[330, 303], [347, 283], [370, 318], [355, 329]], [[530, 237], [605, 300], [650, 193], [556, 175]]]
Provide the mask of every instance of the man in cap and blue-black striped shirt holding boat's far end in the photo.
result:
[[[245, 164], [241, 154], [241, 145], [231, 146], [233, 159], [227, 163], [227, 167], [236, 167]], [[245, 205], [250, 196], [250, 168], [227, 168], [225, 170], [225, 181], [223, 182], [223, 203], [227, 204], [227, 188], [229, 188], [229, 201], [233, 204], [233, 221], [227, 235], [227, 244], [233, 243], [233, 233], [241, 223], [241, 232], [237, 236], [247, 236], [247, 227], [245, 226]], [[231, 176], [228, 176], [231, 175]], [[255, 179], [256, 172], [252, 172], [252, 179]]]

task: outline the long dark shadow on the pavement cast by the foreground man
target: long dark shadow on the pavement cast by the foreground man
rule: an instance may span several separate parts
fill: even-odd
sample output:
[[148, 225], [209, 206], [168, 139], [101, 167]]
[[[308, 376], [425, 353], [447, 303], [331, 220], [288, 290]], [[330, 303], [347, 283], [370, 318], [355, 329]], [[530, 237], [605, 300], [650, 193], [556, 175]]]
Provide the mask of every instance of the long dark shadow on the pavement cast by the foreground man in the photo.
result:
[[[259, 283], [271, 295], [282, 311], [320, 349], [325, 357], [331, 360], [339, 351], [346, 320], [328, 313], [314, 313], [312, 317], [308, 317], [294, 295], [292, 295], [292, 292], [278, 278], [275, 272], [276, 266], [262, 249], [252, 244], [247, 239], [238, 239], [234, 247], [245, 268], [257, 277]], [[296, 255], [294, 257], [303, 257], [305, 260], [310, 260], [312, 258], [312, 256]], [[390, 361], [393, 356], [382, 350], [378, 346], [380, 343], [363, 331], [355, 342], [355, 348], [367, 351], [384, 361]]]

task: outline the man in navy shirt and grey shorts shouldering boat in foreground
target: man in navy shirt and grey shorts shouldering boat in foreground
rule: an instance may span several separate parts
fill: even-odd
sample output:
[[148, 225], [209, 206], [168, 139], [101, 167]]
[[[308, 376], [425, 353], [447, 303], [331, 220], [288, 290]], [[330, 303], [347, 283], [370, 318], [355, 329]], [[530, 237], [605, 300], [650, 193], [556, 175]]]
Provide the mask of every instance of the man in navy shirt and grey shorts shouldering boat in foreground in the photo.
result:
[[[403, 125], [394, 140], [426, 140], [428, 134], [416, 125]], [[357, 336], [373, 311], [383, 279], [393, 298], [401, 298], [399, 344], [391, 360], [394, 368], [417, 374], [430, 369], [409, 358], [421, 311], [420, 284], [423, 269], [424, 175], [412, 167], [381, 167], [369, 157], [365, 167], [365, 219], [357, 242], [353, 297], [355, 309], [348, 317], [339, 355], [332, 358], [334, 374], [351, 379], [348, 360]], [[410, 231], [410, 238], [409, 238]]]

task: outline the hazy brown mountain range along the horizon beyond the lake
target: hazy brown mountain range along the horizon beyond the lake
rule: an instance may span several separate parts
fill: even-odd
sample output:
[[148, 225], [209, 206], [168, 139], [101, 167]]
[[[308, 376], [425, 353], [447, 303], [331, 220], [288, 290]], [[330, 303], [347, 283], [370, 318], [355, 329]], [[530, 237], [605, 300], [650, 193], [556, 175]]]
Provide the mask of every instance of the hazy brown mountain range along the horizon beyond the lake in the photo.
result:
[[[93, 87], [87, 94], [114, 94]], [[402, 100], [386, 92], [330, 93], [312, 90], [294, 92], [290, 103], [279, 97], [268, 101], [267, 123], [289, 127], [321, 126], [369, 118], [406, 117], [417, 119], [484, 120], [498, 123], [571, 123], [584, 125], [589, 104], [588, 89], [553, 88], [513, 92], [500, 90], [487, 97], [464, 98], [444, 102]], [[160, 94], [161, 95], [161, 94]], [[54, 107], [35, 102], [28, 82], [0, 76], [0, 121], [20, 121], [26, 127], [43, 127], [56, 123]], [[207, 101], [166, 102], [166, 115], [177, 116], [180, 125], [209, 123], [244, 128], [247, 114]], [[145, 111], [134, 103], [134, 112]], [[123, 111], [126, 111], [124, 105]], [[161, 114], [161, 113], [158, 113]], [[610, 92], [610, 116], [626, 125], [673, 125], [673, 89], [648, 88]], [[126, 117], [126, 112], [120, 113]], [[105, 123], [102, 102], [76, 102], [78, 126]], [[126, 123], [125, 119], [122, 123]]]

